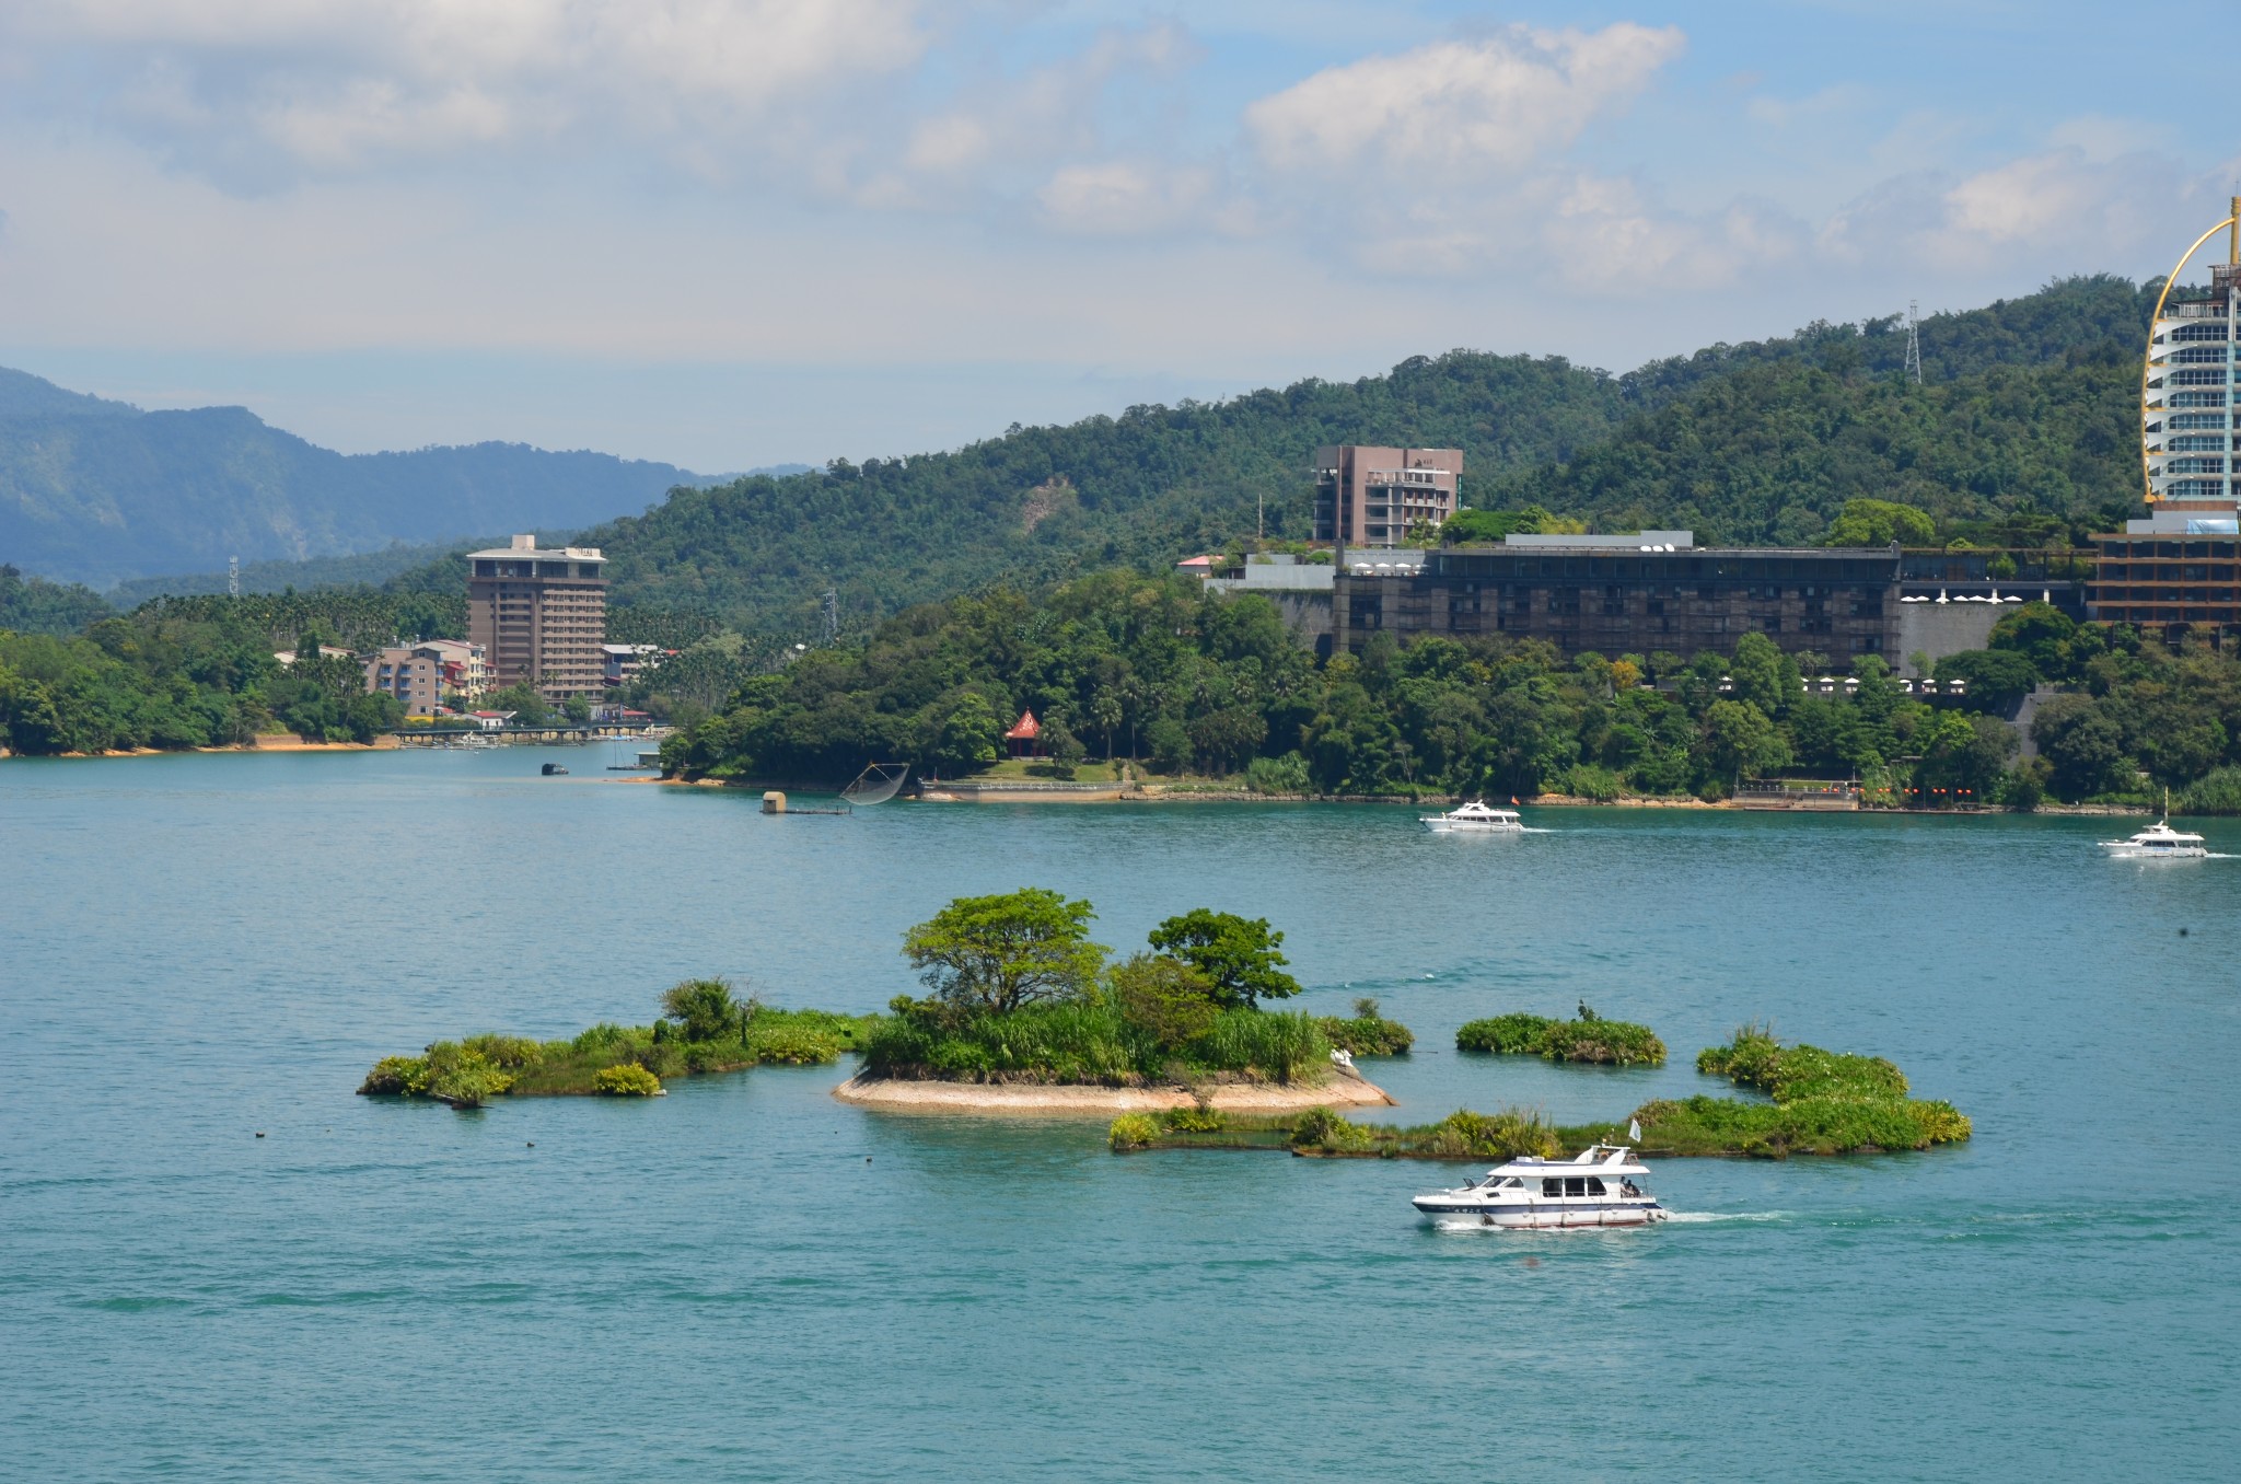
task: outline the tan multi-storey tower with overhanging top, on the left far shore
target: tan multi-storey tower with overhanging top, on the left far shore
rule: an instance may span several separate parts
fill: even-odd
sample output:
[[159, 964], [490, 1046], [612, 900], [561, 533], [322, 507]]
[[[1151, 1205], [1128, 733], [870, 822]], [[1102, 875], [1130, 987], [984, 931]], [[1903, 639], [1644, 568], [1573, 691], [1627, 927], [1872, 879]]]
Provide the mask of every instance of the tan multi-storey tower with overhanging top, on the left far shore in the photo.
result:
[[601, 695], [607, 655], [607, 558], [598, 547], [538, 547], [536, 536], [466, 556], [466, 637], [495, 688], [531, 681], [547, 699]]

